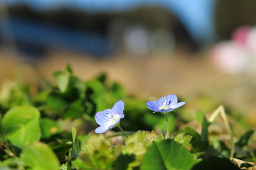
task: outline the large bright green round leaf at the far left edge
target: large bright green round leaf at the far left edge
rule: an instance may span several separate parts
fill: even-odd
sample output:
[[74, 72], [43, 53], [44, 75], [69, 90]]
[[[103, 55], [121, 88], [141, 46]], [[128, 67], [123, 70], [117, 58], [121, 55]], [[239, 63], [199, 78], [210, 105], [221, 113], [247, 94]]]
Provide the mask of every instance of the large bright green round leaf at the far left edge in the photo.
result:
[[40, 113], [31, 106], [14, 107], [3, 117], [2, 132], [12, 145], [23, 148], [41, 138]]

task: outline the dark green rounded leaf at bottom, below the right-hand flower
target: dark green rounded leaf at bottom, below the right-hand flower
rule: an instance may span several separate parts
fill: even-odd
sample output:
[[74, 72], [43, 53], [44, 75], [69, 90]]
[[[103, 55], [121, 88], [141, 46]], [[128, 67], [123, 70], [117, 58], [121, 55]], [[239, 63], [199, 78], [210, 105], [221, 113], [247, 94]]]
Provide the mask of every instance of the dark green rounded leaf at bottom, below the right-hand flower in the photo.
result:
[[173, 140], [155, 143], [146, 152], [141, 170], [188, 170], [195, 164], [193, 155]]

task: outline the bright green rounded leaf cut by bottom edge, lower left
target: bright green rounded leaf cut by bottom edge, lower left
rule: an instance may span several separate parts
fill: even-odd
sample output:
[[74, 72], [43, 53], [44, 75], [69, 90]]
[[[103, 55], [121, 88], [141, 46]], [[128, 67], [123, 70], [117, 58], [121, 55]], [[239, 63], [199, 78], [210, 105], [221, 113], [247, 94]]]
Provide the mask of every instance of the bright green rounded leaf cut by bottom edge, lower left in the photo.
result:
[[20, 159], [33, 170], [57, 170], [59, 160], [54, 152], [44, 143], [36, 142], [24, 148]]

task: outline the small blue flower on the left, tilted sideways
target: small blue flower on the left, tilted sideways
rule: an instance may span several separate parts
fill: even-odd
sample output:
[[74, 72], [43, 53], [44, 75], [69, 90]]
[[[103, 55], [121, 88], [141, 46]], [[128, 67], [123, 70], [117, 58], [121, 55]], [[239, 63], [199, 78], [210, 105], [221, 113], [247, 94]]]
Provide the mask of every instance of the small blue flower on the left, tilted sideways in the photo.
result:
[[95, 114], [95, 121], [100, 125], [100, 127], [95, 129], [95, 133], [104, 133], [110, 128], [118, 126], [121, 118], [124, 118], [123, 111], [124, 102], [120, 100], [111, 109]]

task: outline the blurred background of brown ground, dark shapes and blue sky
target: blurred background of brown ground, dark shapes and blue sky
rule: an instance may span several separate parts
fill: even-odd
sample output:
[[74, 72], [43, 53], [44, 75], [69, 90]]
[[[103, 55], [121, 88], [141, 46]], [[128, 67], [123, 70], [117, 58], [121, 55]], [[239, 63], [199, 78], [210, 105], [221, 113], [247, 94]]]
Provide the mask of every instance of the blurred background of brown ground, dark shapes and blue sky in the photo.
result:
[[255, 11], [251, 0], [3, 0], [0, 83], [33, 81], [34, 68], [53, 80], [70, 64], [82, 80], [106, 72], [139, 98], [175, 94], [185, 113], [222, 104], [255, 127]]

